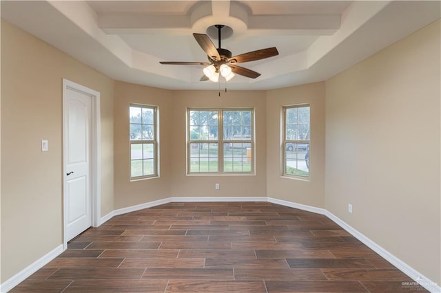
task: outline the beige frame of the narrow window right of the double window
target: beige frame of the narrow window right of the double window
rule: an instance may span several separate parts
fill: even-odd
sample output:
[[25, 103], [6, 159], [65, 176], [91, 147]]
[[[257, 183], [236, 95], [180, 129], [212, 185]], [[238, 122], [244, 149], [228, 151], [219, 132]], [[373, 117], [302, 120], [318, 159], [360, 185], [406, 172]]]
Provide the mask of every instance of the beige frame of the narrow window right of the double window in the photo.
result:
[[[309, 140], [288, 140], [287, 139], [287, 109], [295, 109], [295, 108], [302, 108], [302, 107], [309, 107]], [[311, 164], [308, 164], [308, 175], [295, 175], [295, 174], [289, 174], [287, 173], [287, 144], [307, 144], [307, 151], [309, 153], [308, 160], [310, 158], [310, 150], [311, 150], [311, 104], [309, 103], [302, 103], [302, 104], [296, 104], [296, 105], [286, 105], [282, 107], [282, 145], [281, 145], [281, 151], [282, 151], [282, 176], [283, 177], [289, 177], [289, 178], [295, 178], [299, 180], [309, 180], [311, 177]], [[298, 160], [298, 158], [296, 159]]]

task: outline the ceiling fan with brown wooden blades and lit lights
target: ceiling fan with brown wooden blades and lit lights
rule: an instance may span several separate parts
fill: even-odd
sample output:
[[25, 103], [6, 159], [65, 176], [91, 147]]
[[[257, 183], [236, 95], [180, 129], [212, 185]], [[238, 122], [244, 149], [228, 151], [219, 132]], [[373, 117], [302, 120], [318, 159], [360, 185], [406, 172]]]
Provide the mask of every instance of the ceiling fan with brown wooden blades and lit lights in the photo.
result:
[[248, 78], [257, 78], [260, 76], [260, 73], [254, 72], [253, 70], [245, 67], [240, 67], [236, 64], [256, 61], [278, 55], [276, 47], [269, 47], [262, 50], [232, 56], [232, 52], [220, 47], [220, 33], [224, 25], [214, 26], [218, 29], [218, 48], [214, 46], [214, 43], [209, 39], [207, 34], [193, 34], [194, 39], [196, 39], [202, 50], [204, 50], [204, 52], [207, 54], [208, 62], [161, 61], [160, 63], [166, 65], [207, 65], [207, 67], [203, 69], [204, 75], [202, 76], [201, 81], [212, 80], [217, 82], [219, 73], [221, 76], [225, 77], [227, 81], [233, 78], [234, 74], [239, 74]]

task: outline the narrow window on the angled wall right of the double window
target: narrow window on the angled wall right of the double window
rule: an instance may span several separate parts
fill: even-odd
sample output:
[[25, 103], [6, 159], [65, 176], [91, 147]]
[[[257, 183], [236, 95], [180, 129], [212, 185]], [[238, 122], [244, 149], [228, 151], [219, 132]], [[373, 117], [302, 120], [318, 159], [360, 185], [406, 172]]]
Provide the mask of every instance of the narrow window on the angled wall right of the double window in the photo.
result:
[[309, 177], [309, 105], [283, 107], [283, 175]]

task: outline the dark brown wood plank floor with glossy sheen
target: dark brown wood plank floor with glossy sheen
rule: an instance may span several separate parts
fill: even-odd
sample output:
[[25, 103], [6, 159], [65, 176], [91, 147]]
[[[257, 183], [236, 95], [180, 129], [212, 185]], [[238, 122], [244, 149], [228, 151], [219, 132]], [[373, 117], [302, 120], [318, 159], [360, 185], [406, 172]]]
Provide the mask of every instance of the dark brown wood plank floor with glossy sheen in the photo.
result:
[[113, 217], [12, 290], [416, 291], [427, 292], [327, 217], [267, 202], [171, 203]]

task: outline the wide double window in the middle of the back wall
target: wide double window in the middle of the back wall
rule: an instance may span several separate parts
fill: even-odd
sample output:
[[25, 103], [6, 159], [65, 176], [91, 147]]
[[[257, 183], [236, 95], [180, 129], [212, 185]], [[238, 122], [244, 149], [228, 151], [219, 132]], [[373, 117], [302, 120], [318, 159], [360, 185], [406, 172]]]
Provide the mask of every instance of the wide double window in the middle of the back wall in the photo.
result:
[[188, 109], [188, 173], [253, 173], [253, 109]]

